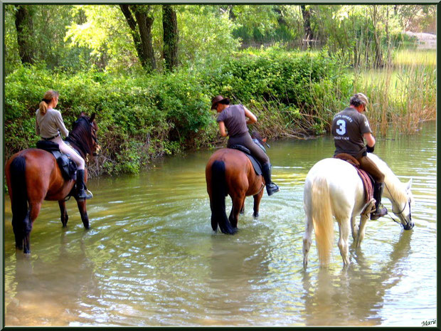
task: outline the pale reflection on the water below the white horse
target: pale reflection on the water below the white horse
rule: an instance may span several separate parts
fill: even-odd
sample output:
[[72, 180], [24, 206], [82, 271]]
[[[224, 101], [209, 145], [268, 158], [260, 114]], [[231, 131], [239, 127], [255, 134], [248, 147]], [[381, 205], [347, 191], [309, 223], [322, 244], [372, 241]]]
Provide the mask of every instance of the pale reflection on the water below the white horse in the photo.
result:
[[408, 256], [411, 233], [401, 232], [379, 272], [370, 268], [359, 248], [351, 249], [355, 266], [337, 273], [327, 269], [314, 275], [304, 272], [305, 325], [381, 325], [386, 293], [405, 277], [400, 263]]

